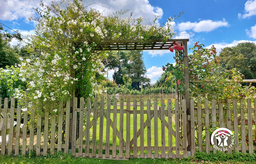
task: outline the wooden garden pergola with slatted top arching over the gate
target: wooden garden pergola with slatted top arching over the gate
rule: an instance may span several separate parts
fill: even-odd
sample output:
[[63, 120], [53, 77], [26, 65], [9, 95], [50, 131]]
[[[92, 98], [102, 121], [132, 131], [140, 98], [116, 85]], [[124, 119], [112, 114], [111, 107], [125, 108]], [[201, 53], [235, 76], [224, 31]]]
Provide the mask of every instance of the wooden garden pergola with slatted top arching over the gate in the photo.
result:
[[[187, 42], [189, 39], [168, 39], [166, 41], [163, 40], [149, 40], [146, 42], [142, 42], [141, 40], [111, 40], [111, 41], [103, 41], [101, 44], [95, 47], [95, 51], [144, 51], [144, 50], [169, 50], [170, 47], [174, 46], [174, 43], [181, 44], [184, 46], [184, 50], [182, 52], [183, 55], [183, 64], [186, 67], [184, 69], [184, 84], [185, 84], [185, 95], [186, 99], [186, 112], [187, 112], [187, 151], [188, 156], [191, 156], [191, 121], [188, 115], [190, 115], [190, 100], [189, 100], [189, 75], [188, 75], [188, 57], [187, 57]], [[89, 43], [90, 44], [90, 43]], [[178, 98], [178, 94], [176, 92], [176, 98]], [[181, 102], [180, 102], [181, 103]], [[73, 104], [73, 103], [71, 103]], [[72, 127], [72, 118], [70, 119], [70, 127]], [[75, 128], [75, 126], [73, 127]], [[72, 136], [72, 128], [70, 128], [70, 136]], [[71, 143], [71, 137], [69, 138]]]

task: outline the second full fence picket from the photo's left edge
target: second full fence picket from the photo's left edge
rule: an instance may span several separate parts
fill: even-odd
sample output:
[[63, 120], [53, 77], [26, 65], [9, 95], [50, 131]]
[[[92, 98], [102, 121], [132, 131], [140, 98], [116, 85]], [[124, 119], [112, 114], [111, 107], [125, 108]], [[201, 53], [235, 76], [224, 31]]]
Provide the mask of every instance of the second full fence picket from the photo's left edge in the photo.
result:
[[14, 124], [14, 108], [15, 108], [15, 98], [11, 99], [11, 111], [10, 111], [10, 132], [9, 132], [9, 144], [8, 144], [8, 154], [13, 153], [13, 124]]

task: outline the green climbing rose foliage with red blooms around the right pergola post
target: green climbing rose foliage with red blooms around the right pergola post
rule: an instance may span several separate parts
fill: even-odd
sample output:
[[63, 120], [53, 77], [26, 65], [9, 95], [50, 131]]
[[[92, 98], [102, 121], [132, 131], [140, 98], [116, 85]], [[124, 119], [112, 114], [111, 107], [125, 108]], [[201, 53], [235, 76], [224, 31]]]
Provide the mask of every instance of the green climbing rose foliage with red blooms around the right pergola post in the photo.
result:
[[[197, 42], [198, 43], [198, 42]], [[216, 49], [203, 48], [203, 44], [195, 43], [193, 53], [189, 55], [189, 80], [201, 81], [189, 84], [190, 97], [211, 100], [252, 98], [256, 94], [255, 87], [241, 85], [243, 75], [236, 69], [223, 70], [219, 58], [216, 56]], [[184, 65], [182, 64], [182, 52], [176, 55], [177, 64], [166, 65], [166, 71], [171, 74], [167, 77], [171, 87], [177, 87], [181, 94], [184, 94]]]

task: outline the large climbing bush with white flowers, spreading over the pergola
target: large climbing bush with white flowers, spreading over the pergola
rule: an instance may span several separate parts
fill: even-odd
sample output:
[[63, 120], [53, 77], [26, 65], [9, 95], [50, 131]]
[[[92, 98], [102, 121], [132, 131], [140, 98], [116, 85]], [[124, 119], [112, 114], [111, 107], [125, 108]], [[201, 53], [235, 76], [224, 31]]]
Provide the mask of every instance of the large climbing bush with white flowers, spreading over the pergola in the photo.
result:
[[[30, 102], [65, 101], [71, 96], [92, 97], [97, 92], [107, 52], [98, 51], [104, 41], [170, 39], [174, 35], [170, 21], [159, 26], [142, 25], [143, 18], [122, 18], [125, 12], [104, 16], [95, 9], [87, 10], [82, 0], [40, 4], [36, 8], [35, 35], [28, 43], [38, 52], [32, 59], [22, 59], [20, 72], [28, 82], [19, 97]], [[97, 77], [96, 77], [97, 75]], [[35, 103], [36, 104], [36, 103]]]

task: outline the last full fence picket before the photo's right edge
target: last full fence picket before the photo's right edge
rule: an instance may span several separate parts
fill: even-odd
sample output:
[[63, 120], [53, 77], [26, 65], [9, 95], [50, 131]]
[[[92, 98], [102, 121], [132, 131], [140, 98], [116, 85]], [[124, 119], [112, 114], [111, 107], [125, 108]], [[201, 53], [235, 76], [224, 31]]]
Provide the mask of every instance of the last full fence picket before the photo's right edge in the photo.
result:
[[247, 99], [247, 109], [248, 109], [248, 146], [249, 153], [253, 155], [253, 124], [252, 124], [252, 114], [251, 114], [251, 98]]

